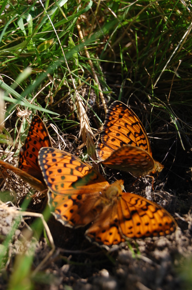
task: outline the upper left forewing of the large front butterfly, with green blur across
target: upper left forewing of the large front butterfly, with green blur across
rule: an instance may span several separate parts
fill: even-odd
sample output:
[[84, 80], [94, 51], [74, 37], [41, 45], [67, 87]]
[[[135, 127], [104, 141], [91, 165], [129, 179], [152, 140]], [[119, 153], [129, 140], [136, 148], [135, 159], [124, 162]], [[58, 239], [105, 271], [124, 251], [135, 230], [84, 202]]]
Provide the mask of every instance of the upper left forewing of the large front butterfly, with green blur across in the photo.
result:
[[44, 181], [56, 194], [90, 193], [109, 185], [92, 166], [66, 151], [45, 147], [38, 158]]

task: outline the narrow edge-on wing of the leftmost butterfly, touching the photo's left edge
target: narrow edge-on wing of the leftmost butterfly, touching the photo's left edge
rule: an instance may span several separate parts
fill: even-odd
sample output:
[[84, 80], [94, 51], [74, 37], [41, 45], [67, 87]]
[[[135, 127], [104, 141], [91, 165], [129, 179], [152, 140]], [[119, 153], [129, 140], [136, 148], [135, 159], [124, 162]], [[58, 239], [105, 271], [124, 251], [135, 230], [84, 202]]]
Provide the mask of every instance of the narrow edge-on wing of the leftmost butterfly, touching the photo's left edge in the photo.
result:
[[35, 187], [39, 191], [43, 191], [44, 189], [46, 189], [46, 185], [44, 183], [42, 183], [40, 180], [36, 179], [35, 177], [31, 176], [27, 172], [25, 172], [17, 167], [14, 167], [13, 165], [11, 165], [3, 160], [0, 160], [0, 165], [5, 170], [9, 169], [9, 170], [13, 171], [17, 175], [19, 175], [23, 180], [30, 183], [31, 186]]

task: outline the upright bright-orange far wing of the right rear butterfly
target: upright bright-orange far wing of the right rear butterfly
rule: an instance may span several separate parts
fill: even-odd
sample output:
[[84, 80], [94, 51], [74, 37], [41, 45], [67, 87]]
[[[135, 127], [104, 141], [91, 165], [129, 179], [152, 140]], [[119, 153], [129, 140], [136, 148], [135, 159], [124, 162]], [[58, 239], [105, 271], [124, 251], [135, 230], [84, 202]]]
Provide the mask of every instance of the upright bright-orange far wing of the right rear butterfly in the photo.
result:
[[122, 102], [115, 101], [108, 108], [96, 146], [98, 159], [106, 159], [125, 144], [137, 146], [152, 155], [147, 133], [137, 115]]

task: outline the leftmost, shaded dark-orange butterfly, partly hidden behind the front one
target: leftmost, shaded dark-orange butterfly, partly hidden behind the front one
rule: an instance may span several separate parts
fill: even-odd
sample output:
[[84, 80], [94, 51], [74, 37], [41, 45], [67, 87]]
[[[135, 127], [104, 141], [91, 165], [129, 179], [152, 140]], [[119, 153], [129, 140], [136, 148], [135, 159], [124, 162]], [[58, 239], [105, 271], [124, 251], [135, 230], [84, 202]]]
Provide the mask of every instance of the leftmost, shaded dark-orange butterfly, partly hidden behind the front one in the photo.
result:
[[20, 148], [18, 168], [0, 160], [0, 165], [19, 175], [23, 180], [42, 191], [46, 188], [38, 165], [38, 152], [41, 147], [51, 147], [46, 126], [38, 115], [34, 115], [24, 145]]

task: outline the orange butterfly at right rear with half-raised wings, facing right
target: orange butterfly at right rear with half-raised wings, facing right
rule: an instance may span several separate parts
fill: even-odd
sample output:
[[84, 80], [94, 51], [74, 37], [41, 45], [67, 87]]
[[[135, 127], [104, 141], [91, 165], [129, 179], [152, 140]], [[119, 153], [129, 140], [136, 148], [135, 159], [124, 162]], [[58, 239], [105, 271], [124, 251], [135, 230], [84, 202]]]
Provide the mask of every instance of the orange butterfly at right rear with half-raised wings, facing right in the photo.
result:
[[109, 106], [96, 153], [105, 166], [131, 172], [137, 177], [163, 169], [163, 165], [152, 157], [150, 142], [141, 121], [119, 101]]

